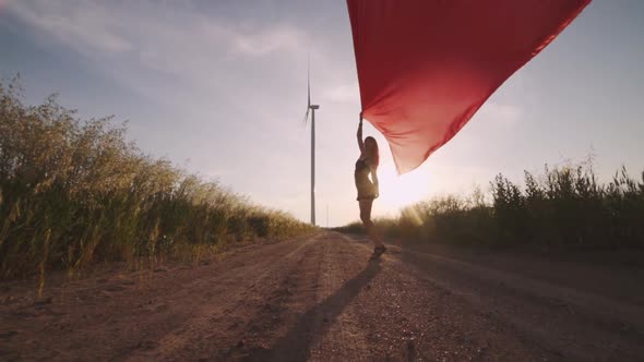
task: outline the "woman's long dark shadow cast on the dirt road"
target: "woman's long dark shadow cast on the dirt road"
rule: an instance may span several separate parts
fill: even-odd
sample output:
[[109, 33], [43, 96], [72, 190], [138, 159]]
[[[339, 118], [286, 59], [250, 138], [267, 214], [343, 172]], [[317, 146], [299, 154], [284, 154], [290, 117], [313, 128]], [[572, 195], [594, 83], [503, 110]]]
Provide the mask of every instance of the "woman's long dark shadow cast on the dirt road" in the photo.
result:
[[[314, 341], [333, 325], [344, 309], [380, 273], [380, 261], [371, 262], [335, 293], [302, 314], [290, 330], [271, 349], [251, 352], [243, 361], [306, 361]], [[323, 317], [323, 321], [320, 321]]]

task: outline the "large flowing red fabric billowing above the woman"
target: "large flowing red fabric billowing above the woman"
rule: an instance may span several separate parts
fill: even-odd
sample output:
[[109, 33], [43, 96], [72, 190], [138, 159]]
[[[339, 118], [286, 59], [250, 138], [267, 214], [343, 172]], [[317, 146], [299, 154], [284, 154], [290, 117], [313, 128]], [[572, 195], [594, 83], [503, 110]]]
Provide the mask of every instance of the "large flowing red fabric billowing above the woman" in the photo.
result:
[[398, 173], [450, 141], [591, 0], [347, 0], [362, 117]]

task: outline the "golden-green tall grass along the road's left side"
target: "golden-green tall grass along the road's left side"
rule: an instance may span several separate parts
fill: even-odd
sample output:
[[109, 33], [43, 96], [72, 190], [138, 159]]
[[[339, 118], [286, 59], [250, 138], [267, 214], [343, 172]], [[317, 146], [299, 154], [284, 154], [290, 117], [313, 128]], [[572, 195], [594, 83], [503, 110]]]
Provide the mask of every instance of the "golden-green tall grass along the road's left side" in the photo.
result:
[[311, 229], [143, 154], [109, 118], [22, 99], [0, 83], [0, 278]]

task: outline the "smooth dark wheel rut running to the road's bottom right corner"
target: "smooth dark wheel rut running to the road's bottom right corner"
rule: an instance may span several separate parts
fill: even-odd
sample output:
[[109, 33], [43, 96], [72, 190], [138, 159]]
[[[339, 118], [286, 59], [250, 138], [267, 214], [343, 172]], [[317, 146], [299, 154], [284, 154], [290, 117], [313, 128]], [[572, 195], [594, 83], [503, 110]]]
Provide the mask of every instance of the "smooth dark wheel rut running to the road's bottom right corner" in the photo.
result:
[[[635, 327], [644, 316], [641, 309], [637, 314], [616, 301], [441, 255], [403, 251], [384, 258], [484, 311], [557, 359], [625, 361], [644, 355], [644, 339]], [[597, 310], [597, 302], [604, 310]], [[629, 316], [631, 323], [625, 322]]]

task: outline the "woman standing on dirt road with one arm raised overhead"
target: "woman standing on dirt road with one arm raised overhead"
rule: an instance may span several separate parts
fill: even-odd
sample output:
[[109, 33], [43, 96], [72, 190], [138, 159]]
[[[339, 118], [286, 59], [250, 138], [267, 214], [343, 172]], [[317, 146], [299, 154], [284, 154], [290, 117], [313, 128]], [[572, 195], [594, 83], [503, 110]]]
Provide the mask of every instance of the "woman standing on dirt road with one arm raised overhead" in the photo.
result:
[[[373, 241], [373, 254], [371, 260], [377, 260], [382, 255], [386, 248], [375, 234], [373, 221], [371, 221], [371, 205], [378, 197], [378, 162], [380, 155], [378, 153], [378, 143], [375, 138], [369, 136], [362, 141], [362, 118], [358, 125], [358, 146], [360, 147], [360, 157], [356, 161], [356, 171], [354, 178], [358, 189], [358, 204], [360, 205], [360, 220], [365, 224], [369, 238]], [[371, 179], [369, 179], [371, 176]]]

